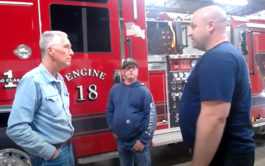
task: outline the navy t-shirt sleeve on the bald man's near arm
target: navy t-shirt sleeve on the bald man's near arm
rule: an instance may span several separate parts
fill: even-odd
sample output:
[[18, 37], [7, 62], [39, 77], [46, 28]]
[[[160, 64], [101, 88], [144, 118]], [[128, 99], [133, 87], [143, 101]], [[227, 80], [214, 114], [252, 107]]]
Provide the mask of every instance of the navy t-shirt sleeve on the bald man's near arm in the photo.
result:
[[232, 101], [237, 65], [231, 60], [231, 56], [229, 53], [211, 51], [206, 57], [202, 57], [197, 68], [201, 102]]

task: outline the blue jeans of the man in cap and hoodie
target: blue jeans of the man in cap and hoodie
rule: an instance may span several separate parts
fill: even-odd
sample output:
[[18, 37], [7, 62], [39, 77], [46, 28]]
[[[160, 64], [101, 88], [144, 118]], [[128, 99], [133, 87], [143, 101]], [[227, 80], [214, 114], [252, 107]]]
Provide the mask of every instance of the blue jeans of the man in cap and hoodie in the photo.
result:
[[151, 166], [150, 145], [147, 144], [142, 151], [134, 150], [136, 140], [124, 142], [117, 138], [120, 166]]

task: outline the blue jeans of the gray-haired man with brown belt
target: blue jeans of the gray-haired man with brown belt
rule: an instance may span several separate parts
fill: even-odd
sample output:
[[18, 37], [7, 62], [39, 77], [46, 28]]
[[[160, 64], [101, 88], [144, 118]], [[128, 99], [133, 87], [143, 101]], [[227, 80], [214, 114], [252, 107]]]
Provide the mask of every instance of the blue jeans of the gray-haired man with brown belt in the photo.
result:
[[59, 156], [51, 161], [44, 161], [41, 157], [31, 156], [32, 166], [74, 166], [72, 145], [64, 146], [59, 151]]

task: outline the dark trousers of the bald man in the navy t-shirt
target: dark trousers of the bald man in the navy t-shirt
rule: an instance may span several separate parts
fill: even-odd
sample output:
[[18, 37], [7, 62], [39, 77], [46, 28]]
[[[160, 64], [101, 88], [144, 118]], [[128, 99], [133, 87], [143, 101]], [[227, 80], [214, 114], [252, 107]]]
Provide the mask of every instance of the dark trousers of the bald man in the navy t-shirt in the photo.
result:
[[254, 166], [254, 162], [255, 151], [238, 155], [216, 155], [209, 166]]

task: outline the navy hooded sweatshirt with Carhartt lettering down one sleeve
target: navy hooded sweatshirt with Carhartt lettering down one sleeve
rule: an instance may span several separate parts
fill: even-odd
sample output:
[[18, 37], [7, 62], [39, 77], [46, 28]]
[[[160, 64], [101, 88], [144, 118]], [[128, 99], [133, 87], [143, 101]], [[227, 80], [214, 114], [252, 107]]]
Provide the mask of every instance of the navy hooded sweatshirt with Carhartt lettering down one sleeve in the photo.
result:
[[139, 139], [146, 145], [153, 138], [157, 114], [150, 91], [139, 81], [114, 85], [107, 104], [109, 130], [122, 141]]

